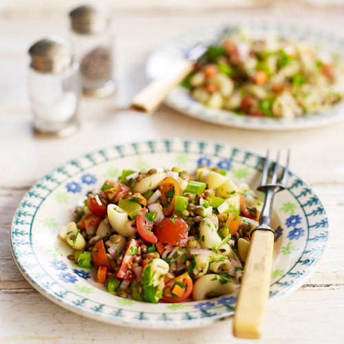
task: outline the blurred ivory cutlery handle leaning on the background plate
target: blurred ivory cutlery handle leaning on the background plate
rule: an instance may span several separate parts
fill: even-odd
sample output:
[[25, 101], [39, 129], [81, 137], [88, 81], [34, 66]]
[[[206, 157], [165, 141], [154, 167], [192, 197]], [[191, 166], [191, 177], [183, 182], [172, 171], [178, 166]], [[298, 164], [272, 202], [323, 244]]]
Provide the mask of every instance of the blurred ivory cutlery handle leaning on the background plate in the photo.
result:
[[134, 96], [131, 109], [151, 113], [192, 70], [193, 63], [191, 61], [180, 59], [168, 72], [153, 80]]

